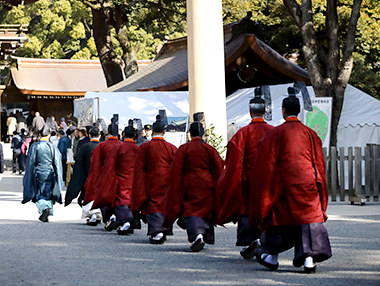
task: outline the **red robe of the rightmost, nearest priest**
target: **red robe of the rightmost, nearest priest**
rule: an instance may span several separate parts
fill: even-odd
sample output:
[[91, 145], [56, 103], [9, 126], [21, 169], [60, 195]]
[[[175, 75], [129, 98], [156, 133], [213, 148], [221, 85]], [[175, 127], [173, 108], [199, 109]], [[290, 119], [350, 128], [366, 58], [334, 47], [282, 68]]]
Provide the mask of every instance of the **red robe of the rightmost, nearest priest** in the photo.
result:
[[318, 135], [296, 117], [268, 132], [257, 151], [250, 223], [288, 226], [324, 222], [328, 202]]

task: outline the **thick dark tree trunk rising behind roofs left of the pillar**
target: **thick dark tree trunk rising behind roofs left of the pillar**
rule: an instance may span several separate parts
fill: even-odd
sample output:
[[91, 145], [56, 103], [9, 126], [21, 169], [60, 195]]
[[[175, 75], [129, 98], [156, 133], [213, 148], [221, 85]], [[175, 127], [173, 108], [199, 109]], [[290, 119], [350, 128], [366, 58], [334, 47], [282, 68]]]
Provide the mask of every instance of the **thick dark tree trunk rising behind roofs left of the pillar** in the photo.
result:
[[123, 71], [112, 44], [109, 9], [100, 7], [92, 8], [91, 10], [96, 49], [106, 77], [107, 86], [110, 87], [123, 80]]

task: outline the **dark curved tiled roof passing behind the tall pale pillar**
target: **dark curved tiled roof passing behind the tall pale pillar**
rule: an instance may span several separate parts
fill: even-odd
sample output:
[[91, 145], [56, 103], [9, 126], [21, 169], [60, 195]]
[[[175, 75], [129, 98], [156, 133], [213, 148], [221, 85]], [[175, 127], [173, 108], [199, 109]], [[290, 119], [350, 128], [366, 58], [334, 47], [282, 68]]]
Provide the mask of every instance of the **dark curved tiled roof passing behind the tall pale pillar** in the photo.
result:
[[[227, 27], [228, 28], [228, 27]], [[236, 71], [239, 57], [250, 57], [258, 70], [260, 84], [280, 84], [304, 81], [310, 84], [307, 71], [282, 57], [253, 34], [240, 34], [232, 37], [225, 28], [226, 74]], [[228, 39], [227, 39], [228, 38]], [[144, 70], [124, 81], [107, 88], [107, 92], [123, 91], [170, 91], [186, 89], [188, 85], [187, 38], [168, 41], [156, 59]], [[209, 63], [208, 63], [209, 64]], [[264, 79], [264, 81], [263, 81]], [[234, 85], [236, 83], [232, 83]], [[256, 84], [252, 82], [252, 84]], [[227, 87], [229, 82], [227, 80]], [[235, 87], [234, 87], [235, 88]]]

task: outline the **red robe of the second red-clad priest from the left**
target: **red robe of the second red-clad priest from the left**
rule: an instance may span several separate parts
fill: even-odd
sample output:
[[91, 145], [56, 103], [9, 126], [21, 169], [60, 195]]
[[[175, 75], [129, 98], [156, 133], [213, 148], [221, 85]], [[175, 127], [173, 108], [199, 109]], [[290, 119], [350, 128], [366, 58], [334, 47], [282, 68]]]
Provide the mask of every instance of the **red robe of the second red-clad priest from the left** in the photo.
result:
[[116, 161], [117, 191], [114, 206], [131, 207], [133, 168], [139, 147], [132, 139], [125, 139]]

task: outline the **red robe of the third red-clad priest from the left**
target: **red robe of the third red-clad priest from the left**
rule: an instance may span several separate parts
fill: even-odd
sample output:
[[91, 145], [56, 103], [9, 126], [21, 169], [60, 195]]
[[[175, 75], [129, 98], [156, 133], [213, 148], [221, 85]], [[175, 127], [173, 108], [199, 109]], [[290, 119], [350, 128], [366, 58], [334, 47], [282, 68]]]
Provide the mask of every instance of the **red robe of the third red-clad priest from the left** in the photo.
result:
[[177, 148], [163, 137], [153, 137], [140, 145], [136, 154], [131, 193], [134, 217], [164, 213], [163, 197], [170, 180], [170, 162]]

